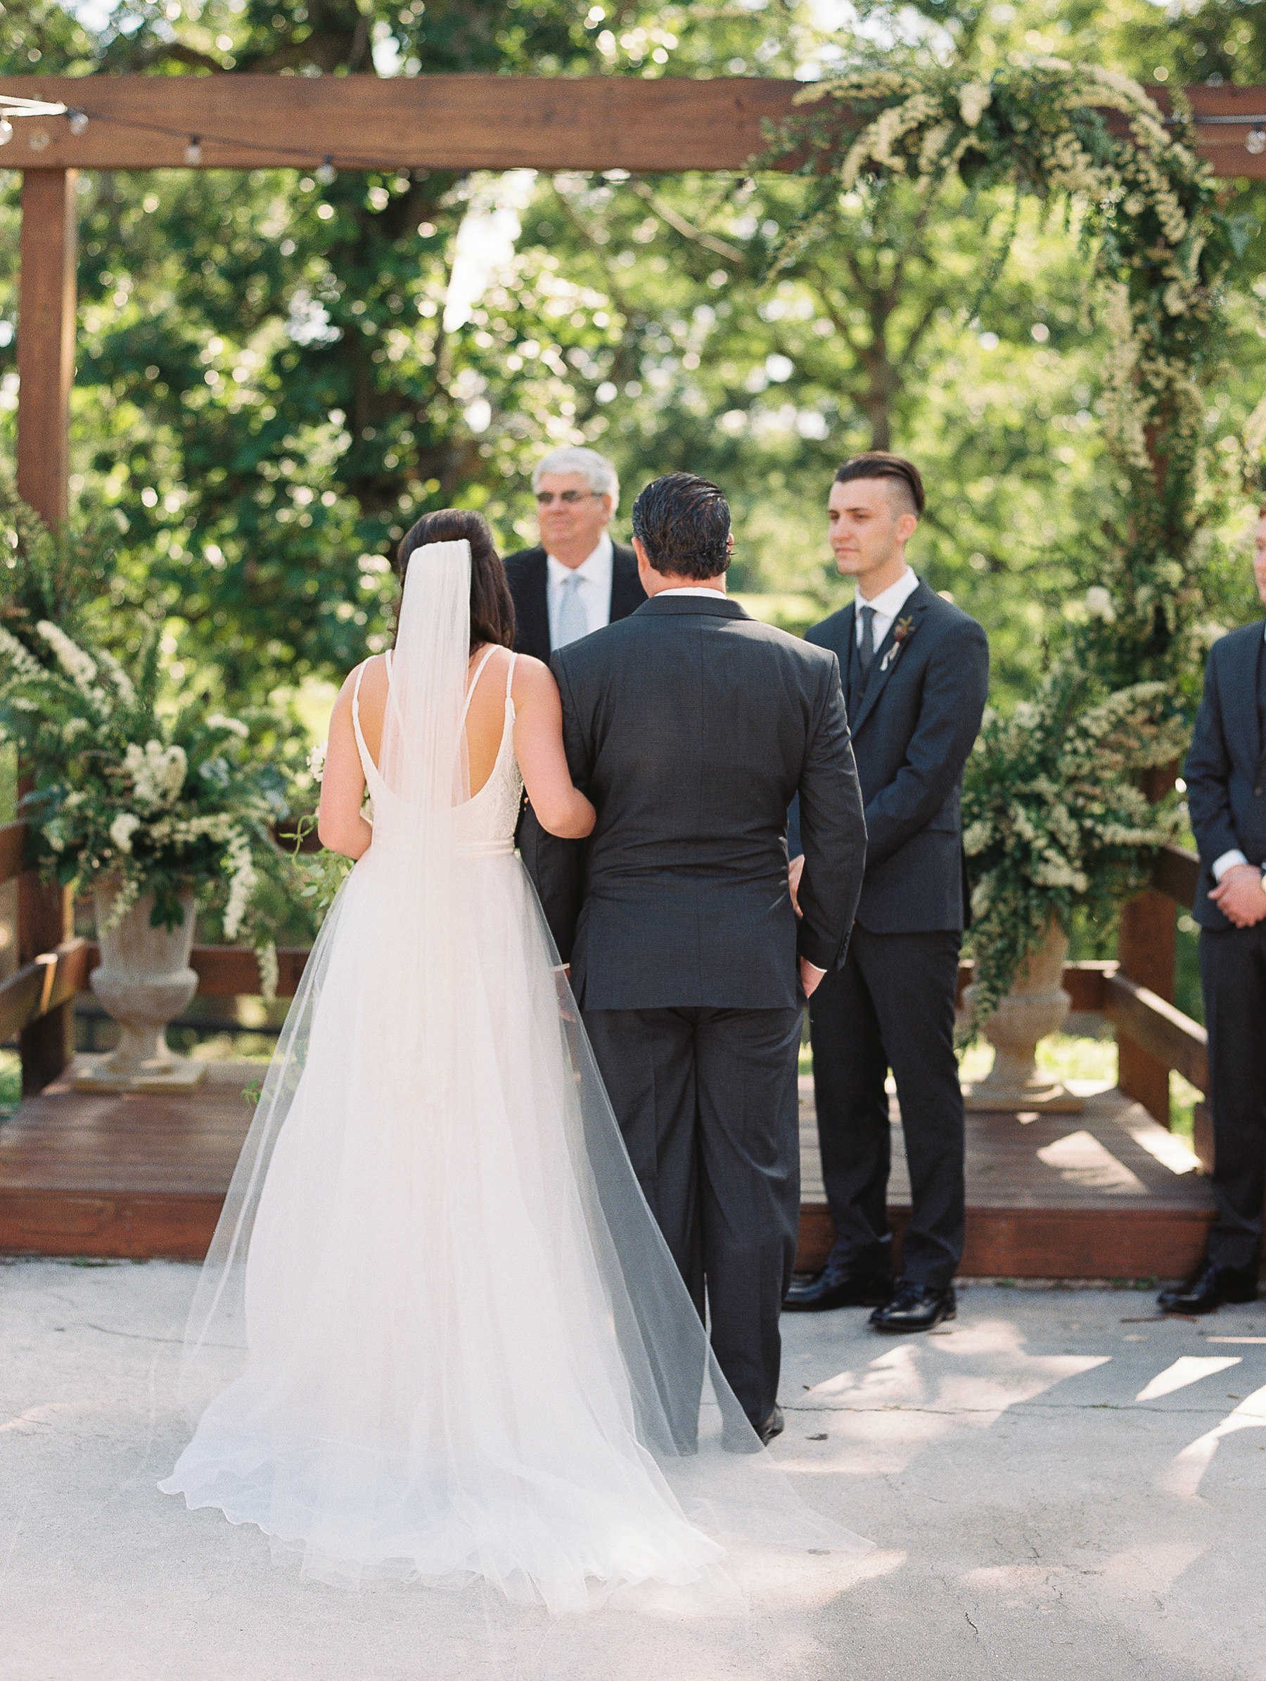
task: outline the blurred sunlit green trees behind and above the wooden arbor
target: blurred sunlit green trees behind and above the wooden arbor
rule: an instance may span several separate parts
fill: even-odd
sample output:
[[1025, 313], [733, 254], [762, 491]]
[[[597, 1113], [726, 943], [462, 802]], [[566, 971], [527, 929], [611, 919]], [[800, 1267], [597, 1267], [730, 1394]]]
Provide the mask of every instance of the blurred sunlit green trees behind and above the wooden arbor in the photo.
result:
[[[1266, 5], [1205, 0], [3, 0], [5, 72], [799, 76], [866, 54], [1093, 57], [1150, 84], [1266, 82]], [[340, 136], [348, 145], [348, 136]], [[319, 151], [319, 138], [314, 141]], [[119, 607], [225, 699], [299, 694], [382, 646], [388, 555], [427, 508], [531, 541], [558, 442], [629, 494], [716, 477], [733, 587], [800, 629], [847, 598], [824, 541], [834, 466], [869, 445], [930, 486], [915, 563], [989, 629], [1019, 698], [1095, 577], [1103, 340], [1084, 254], [1009, 197], [846, 203], [854, 235], [772, 267], [805, 183], [257, 170], [81, 180], [77, 503], [119, 531]], [[0, 447], [15, 408], [17, 175], [0, 175]], [[1209, 427], [1263, 393], [1263, 187]], [[624, 528], [624, 521], [617, 524]], [[1231, 499], [1222, 622], [1253, 610]], [[126, 622], [121, 615], [119, 624]]]

